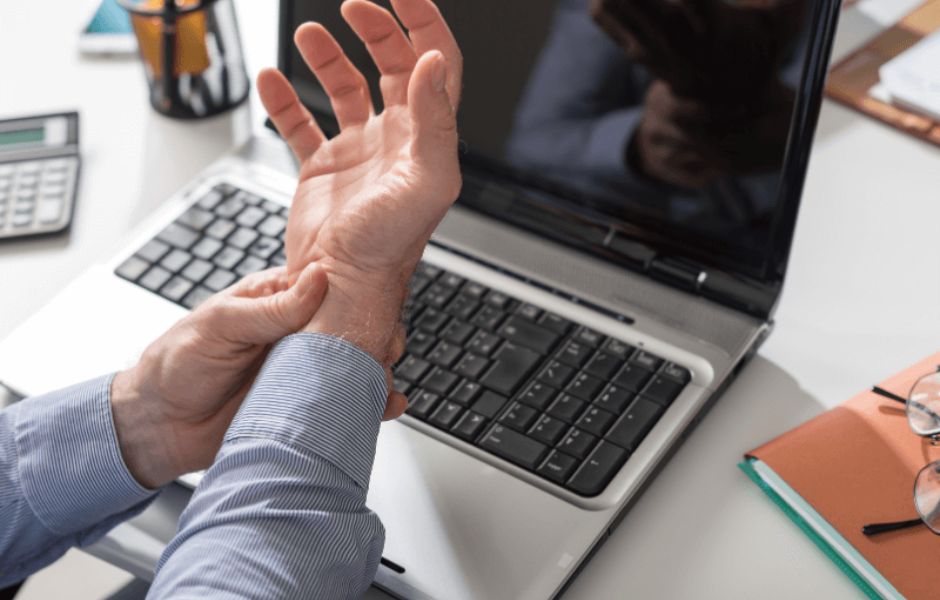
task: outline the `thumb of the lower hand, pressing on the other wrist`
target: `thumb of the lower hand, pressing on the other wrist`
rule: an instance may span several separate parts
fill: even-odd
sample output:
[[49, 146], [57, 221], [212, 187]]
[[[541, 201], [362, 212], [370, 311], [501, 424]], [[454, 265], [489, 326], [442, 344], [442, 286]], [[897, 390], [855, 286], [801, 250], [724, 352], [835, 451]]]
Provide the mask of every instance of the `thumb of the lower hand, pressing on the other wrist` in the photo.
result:
[[296, 333], [313, 319], [326, 294], [326, 272], [308, 265], [288, 289], [260, 298], [236, 298], [231, 317], [245, 342], [270, 344]]

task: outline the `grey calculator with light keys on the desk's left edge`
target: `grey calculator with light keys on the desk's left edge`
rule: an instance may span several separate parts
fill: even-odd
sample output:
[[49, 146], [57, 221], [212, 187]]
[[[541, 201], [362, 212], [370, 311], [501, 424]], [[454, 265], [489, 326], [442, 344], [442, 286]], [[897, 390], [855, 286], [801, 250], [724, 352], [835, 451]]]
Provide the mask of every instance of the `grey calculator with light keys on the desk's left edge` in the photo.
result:
[[0, 240], [68, 229], [79, 164], [78, 113], [0, 121]]

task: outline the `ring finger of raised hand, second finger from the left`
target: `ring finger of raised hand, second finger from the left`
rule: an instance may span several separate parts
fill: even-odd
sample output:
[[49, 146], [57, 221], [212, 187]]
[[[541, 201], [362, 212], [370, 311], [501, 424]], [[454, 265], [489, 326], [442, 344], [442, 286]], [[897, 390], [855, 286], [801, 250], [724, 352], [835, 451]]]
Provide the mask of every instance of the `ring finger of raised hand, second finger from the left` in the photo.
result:
[[306, 23], [297, 29], [294, 42], [330, 97], [340, 127], [365, 123], [372, 115], [366, 78], [330, 32], [319, 23]]

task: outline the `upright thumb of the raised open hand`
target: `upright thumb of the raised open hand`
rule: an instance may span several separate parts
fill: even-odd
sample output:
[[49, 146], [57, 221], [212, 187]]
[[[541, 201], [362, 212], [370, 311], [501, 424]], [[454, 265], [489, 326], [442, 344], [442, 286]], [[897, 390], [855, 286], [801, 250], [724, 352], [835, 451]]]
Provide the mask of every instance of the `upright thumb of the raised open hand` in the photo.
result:
[[413, 127], [412, 152], [417, 159], [456, 159], [457, 115], [447, 95], [447, 60], [437, 50], [418, 59], [408, 84]]

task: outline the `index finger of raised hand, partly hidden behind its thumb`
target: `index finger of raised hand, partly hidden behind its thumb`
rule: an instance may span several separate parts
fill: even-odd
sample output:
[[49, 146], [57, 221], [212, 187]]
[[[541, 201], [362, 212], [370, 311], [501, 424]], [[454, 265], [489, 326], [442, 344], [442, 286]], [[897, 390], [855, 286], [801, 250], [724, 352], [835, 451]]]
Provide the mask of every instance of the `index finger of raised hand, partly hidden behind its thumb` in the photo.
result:
[[447, 96], [456, 112], [460, 106], [463, 82], [463, 55], [441, 11], [431, 0], [392, 0], [392, 8], [408, 30], [415, 55], [421, 56], [431, 50], [444, 55], [447, 62]]

